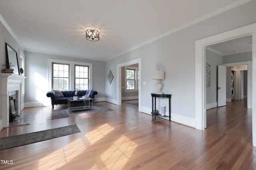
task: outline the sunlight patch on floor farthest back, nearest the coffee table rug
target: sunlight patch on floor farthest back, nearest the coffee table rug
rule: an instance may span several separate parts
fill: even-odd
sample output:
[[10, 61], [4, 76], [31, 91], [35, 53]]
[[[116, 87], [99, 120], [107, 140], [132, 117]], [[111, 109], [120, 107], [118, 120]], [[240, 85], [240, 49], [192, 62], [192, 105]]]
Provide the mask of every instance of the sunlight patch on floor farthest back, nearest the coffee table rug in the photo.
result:
[[114, 128], [107, 123], [94, 129], [93, 131], [88, 132], [85, 136], [88, 139], [89, 143], [93, 145], [99, 141], [102, 137], [106, 136], [108, 133], [113, 131]]

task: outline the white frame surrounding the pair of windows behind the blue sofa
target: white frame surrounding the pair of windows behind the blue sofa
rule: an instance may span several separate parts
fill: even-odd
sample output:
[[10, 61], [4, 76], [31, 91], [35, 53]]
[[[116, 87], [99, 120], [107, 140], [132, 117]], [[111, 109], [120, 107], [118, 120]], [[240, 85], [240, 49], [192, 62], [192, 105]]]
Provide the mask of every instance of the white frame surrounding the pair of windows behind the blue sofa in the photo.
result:
[[52, 91], [52, 63], [62, 63], [62, 64], [70, 64], [70, 89], [74, 90], [75, 88], [75, 65], [85, 65], [89, 66], [89, 89], [92, 89], [92, 63], [82, 63], [77, 61], [67, 61], [67, 60], [59, 60], [59, 59], [48, 59], [48, 91]]

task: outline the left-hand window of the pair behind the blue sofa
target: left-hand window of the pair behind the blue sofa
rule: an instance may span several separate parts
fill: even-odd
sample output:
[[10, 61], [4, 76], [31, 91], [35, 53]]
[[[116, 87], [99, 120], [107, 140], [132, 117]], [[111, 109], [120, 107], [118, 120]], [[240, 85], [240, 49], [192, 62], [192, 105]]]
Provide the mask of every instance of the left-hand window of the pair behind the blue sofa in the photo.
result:
[[52, 89], [69, 90], [69, 72], [69, 64], [52, 63]]

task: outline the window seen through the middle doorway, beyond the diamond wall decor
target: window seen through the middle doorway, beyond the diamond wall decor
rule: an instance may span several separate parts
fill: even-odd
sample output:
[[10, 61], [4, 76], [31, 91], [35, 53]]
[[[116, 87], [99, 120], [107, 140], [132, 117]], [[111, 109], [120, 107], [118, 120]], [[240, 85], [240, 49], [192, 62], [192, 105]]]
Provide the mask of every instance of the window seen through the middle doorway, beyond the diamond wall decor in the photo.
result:
[[138, 68], [126, 66], [125, 72], [125, 91], [137, 91], [138, 90]]

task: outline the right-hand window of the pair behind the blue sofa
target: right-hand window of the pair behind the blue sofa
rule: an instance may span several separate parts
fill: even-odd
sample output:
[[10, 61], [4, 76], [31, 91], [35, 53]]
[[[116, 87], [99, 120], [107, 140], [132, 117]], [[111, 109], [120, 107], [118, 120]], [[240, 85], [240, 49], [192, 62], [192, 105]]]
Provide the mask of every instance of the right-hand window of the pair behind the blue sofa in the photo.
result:
[[75, 90], [89, 90], [89, 66], [75, 65]]

